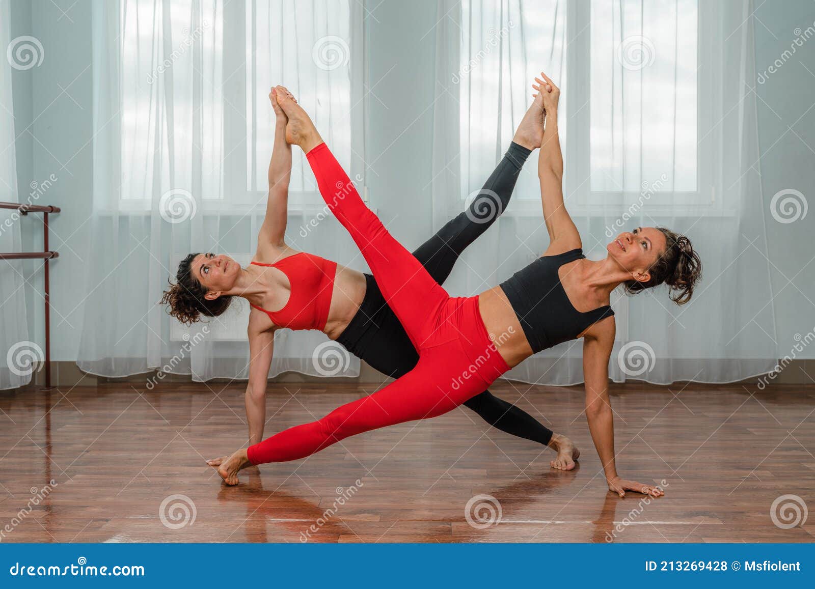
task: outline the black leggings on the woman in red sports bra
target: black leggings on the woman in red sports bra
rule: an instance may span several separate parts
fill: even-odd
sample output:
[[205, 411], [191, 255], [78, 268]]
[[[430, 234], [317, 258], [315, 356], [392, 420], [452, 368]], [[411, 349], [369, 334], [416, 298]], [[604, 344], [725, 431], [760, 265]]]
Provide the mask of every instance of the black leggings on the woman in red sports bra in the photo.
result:
[[[438, 284], [444, 283], [465, 248], [487, 231], [506, 209], [518, 173], [529, 154], [526, 147], [511, 143], [504, 159], [469, 208], [447, 222], [436, 235], [413, 252]], [[365, 278], [367, 288], [362, 304], [337, 342], [383, 374], [399, 378], [416, 366], [419, 354], [402, 323], [382, 297], [377, 282], [371, 275], [365, 275]], [[478, 413], [488, 424], [513, 436], [541, 444], [548, 444], [552, 438], [551, 429], [489, 391], [470, 398], [464, 405]]]

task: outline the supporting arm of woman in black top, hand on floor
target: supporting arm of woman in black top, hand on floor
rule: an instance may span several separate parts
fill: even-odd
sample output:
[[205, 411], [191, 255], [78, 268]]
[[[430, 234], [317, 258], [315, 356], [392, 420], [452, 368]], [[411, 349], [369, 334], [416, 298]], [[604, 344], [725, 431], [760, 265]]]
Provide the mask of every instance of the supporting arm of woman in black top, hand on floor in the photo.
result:
[[609, 400], [609, 358], [614, 345], [613, 321], [597, 323], [593, 334], [584, 337], [583, 377], [586, 387], [586, 419], [592, 433], [594, 447], [606, 474], [609, 490], [625, 495], [626, 490], [659, 497], [663, 494], [657, 486], [628, 481], [617, 474], [614, 451], [614, 414]]

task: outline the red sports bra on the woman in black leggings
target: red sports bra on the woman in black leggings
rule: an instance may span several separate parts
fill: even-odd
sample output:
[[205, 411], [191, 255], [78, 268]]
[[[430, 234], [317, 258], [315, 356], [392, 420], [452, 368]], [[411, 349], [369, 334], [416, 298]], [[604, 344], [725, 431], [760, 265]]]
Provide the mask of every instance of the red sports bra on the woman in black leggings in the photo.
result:
[[328, 309], [331, 307], [337, 262], [311, 253], [297, 252], [275, 264], [251, 263], [256, 266], [272, 266], [283, 272], [289, 279], [291, 292], [289, 301], [279, 311], [267, 311], [252, 303], [249, 305], [262, 310], [280, 327], [320, 331], [324, 329], [328, 321]]

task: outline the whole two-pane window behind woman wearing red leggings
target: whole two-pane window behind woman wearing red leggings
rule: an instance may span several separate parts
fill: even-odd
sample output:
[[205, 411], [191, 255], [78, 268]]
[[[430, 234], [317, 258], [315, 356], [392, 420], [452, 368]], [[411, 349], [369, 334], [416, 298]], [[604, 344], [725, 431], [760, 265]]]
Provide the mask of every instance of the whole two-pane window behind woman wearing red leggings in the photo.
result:
[[[670, 204], [650, 201], [656, 209], [720, 210], [712, 165], [720, 140], [719, 73], [711, 60], [706, 68], [699, 60], [720, 51], [720, 33], [704, 24], [718, 22], [716, 5], [700, 6], [698, 0], [464, 3], [460, 70], [465, 75], [458, 82], [462, 199], [478, 190], [484, 170], [506, 148], [531, 99], [531, 79], [546, 68], [562, 90], [559, 121], [571, 213], [594, 215], [605, 204], [632, 204], [646, 189], [672, 195]], [[516, 212], [540, 211], [534, 156], [518, 179], [516, 195], [529, 201], [514, 207]]]

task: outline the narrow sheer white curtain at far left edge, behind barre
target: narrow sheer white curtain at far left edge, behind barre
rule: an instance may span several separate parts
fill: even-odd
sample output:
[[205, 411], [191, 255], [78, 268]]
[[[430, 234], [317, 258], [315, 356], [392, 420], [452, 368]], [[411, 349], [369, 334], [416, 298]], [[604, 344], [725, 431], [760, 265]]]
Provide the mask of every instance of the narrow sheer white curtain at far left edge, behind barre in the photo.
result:
[[[0, 0], [0, 47], [4, 50], [24, 46], [20, 40], [11, 46], [9, 33], [10, 7]], [[0, 60], [0, 200], [20, 202], [17, 194], [17, 168], [14, 145], [14, 107], [11, 101], [11, 59]], [[31, 55], [29, 54], [29, 57]], [[0, 209], [0, 252], [20, 252], [20, 215], [15, 210]], [[29, 341], [25, 314], [24, 260], [0, 261], [0, 389], [15, 389], [31, 381], [29, 361], [42, 362], [42, 349]], [[39, 350], [39, 351], [37, 351]]]

